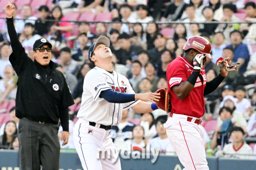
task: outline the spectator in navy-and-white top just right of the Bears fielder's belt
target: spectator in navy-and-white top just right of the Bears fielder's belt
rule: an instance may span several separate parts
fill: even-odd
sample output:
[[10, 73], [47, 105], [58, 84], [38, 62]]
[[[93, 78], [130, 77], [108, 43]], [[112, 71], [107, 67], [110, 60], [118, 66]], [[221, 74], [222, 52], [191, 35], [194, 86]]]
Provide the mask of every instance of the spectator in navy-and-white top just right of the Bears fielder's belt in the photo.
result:
[[128, 114], [129, 109], [124, 110], [122, 113], [122, 119], [120, 121], [120, 124], [117, 126], [112, 126], [109, 132], [110, 137], [112, 138], [112, 141], [116, 146], [117, 150], [122, 149], [125, 141], [133, 138], [132, 129], [134, 127], [134, 124], [127, 121]]

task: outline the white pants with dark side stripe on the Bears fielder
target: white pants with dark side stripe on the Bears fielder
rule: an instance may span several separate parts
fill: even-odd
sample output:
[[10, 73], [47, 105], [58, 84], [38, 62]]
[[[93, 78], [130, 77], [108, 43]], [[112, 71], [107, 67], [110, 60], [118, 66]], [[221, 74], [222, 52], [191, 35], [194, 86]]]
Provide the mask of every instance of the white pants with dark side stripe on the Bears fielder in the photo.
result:
[[99, 128], [100, 124], [90, 126], [89, 122], [79, 118], [74, 127], [74, 145], [79, 155], [84, 170], [121, 170], [119, 156], [112, 163], [114, 156], [111, 152], [110, 159], [107, 154], [105, 158], [97, 158], [97, 149], [110, 149], [117, 153], [116, 147], [109, 135], [109, 130]]

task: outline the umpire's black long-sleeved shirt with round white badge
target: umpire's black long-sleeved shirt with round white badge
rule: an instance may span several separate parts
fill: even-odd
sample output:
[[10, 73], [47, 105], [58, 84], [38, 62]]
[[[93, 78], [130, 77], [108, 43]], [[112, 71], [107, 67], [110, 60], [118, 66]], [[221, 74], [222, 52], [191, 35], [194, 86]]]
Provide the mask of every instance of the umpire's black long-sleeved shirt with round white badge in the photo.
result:
[[53, 124], [60, 119], [63, 130], [68, 131], [68, 111], [63, 110], [74, 100], [63, 74], [52, 61], [46, 66], [33, 62], [18, 40], [13, 18], [6, 22], [13, 50], [9, 60], [19, 77], [16, 117]]

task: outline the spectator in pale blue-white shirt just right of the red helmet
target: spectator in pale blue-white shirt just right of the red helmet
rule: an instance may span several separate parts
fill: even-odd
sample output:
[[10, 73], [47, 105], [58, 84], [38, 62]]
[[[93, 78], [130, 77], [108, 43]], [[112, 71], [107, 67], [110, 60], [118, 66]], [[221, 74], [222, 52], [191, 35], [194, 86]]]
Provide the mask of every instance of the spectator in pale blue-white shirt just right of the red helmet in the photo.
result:
[[212, 63], [214, 64], [220, 57], [222, 57], [223, 49], [226, 47], [226, 45], [224, 44], [224, 41], [225, 41], [225, 37], [221, 31], [215, 33], [214, 45], [212, 47], [212, 57], [213, 57]]

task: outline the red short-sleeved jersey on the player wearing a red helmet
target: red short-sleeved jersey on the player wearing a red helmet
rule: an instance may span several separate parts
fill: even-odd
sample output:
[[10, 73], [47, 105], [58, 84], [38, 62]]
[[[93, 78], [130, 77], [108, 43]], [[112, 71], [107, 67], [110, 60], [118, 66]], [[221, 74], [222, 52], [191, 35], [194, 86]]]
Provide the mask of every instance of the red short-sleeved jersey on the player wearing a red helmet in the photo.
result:
[[193, 72], [193, 66], [188, 60], [180, 56], [172, 61], [167, 68], [168, 89], [170, 90], [170, 100], [172, 103], [171, 113], [182, 114], [200, 118], [204, 115], [204, 88], [206, 86], [206, 75], [203, 67], [200, 74], [203, 77], [201, 80], [198, 76], [193, 90], [183, 99], [180, 100], [172, 91], [172, 86], [178, 85], [188, 79]]

